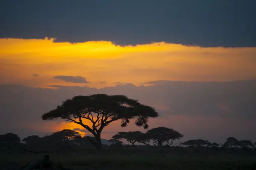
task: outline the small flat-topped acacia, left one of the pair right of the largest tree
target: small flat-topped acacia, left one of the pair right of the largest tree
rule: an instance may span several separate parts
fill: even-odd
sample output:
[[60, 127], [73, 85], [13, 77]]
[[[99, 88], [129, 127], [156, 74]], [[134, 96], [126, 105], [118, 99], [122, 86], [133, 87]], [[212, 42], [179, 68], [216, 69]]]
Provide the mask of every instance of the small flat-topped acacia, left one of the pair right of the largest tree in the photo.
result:
[[140, 131], [129, 131], [129, 132], [118, 132], [116, 135], [114, 135], [113, 139], [125, 139], [129, 143], [131, 143], [134, 146], [134, 143], [137, 141], [140, 141], [140, 138], [142, 136], [142, 132]]

